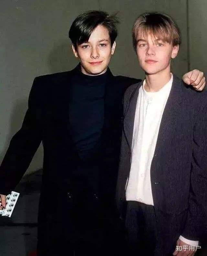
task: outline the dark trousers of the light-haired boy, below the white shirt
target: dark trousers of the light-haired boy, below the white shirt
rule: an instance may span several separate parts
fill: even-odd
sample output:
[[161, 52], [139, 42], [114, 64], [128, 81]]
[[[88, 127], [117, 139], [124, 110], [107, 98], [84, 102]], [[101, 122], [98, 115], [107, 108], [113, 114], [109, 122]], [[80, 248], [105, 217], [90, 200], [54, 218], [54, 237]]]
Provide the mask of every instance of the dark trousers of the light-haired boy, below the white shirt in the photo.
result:
[[[180, 233], [171, 229], [178, 226], [180, 218], [183, 216], [174, 219], [164, 213], [156, 216], [154, 206], [128, 201], [125, 222], [128, 255], [172, 256]], [[157, 223], [162, 224], [158, 226]]]

